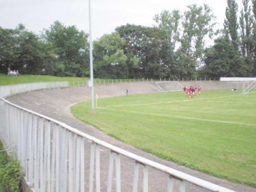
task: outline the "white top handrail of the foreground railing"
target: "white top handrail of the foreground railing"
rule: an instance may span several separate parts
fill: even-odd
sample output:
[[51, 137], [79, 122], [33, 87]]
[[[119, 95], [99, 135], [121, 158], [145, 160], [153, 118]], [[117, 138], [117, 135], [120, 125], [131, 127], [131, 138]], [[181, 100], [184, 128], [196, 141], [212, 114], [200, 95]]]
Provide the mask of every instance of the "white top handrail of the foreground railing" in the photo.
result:
[[111, 151], [113, 151], [113, 152], [115, 152], [117, 154], [122, 154], [123, 156], [128, 157], [128, 158], [130, 158], [132, 160], [135, 160], [136, 162], [138, 162], [140, 164], [143, 164], [143, 165], [146, 165], [146, 166], [150, 166], [150, 167], [152, 167], [154, 169], [157, 169], [157, 170], [159, 170], [161, 172], [164, 172], [164, 173], [166, 173], [166, 174], [168, 174], [171, 177], [174, 177], [176, 179], [185, 180], [185, 181], [187, 181], [189, 183], [192, 183], [192, 184], [194, 184], [196, 186], [200, 186], [200, 187], [202, 187], [204, 189], [208, 189], [208, 190], [210, 190], [212, 192], [234, 192], [234, 191], [232, 191], [230, 189], [226, 189], [224, 187], [218, 186], [218, 185], [210, 183], [208, 181], [199, 179], [197, 177], [194, 177], [194, 176], [188, 175], [186, 173], [183, 173], [183, 172], [177, 171], [175, 169], [172, 169], [170, 167], [164, 166], [164, 165], [162, 165], [160, 163], [156, 163], [154, 161], [148, 160], [148, 159], [146, 159], [144, 157], [140, 157], [140, 156], [138, 156], [136, 154], [133, 154], [131, 152], [125, 151], [122, 148], [118, 148], [118, 147], [116, 147], [114, 145], [111, 145], [111, 144], [106, 143], [106, 142], [104, 142], [102, 140], [96, 139], [95, 137], [92, 137], [92, 136], [90, 136], [88, 134], [85, 134], [85, 133], [83, 133], [83, 132], [81, 132], [81, 131], [79, 131], [79, 130], [77, 130], [77, 129], [75, 129], [75, 128], [73, 128], [73, 127], [71, 127], [71, 126], [69, 126], [69, 125], [67, 125], [65, 123], [63, 123], [63, 122], [60, 122], [60, 121], [52, 119], [52, 118], [50, 118], [48, 116], [44, 116], [44, 115], [42, 115], [40, 113], [36, 113], [34, 111], [28, 110], [26, 108], [22, 108], [22, 107], [20, 107], [18, 105], [15, 105], [15, 104], [7, 101], [6, 99], [3, 99], [3, 98], [0, 98], [0, 99], [3, 102], [5, 102], [5, 103], [7, 103], [9, 105], [12, 105], [15, 108], [18, 108], [18, 109], [20, 109], [22, 111], [26, 111], [28, 113], [31, 113], [31, 114], [35, 115], [35, 116], [39, 116], [39, 117], [41, 117], [43, 119], [47, 119], [50, 122], [54, 122], [56, 125], [60, 125], [61, 127], [67, 129], [68, 131], [71, 131], [71, 132], [73, 132], [73, 133], [75, 133], [75, 134], [77, 134], [77, 135], [79, 135], [81, 137], [84, 137], [87, 140], [92, 141], [93, 143], [96, 143], [96, 144], [99, 144], [99, 145], [101, 145], [101, 146], [103, 146], [105, 148], [108, 148], [108, 149], [110, 149]]

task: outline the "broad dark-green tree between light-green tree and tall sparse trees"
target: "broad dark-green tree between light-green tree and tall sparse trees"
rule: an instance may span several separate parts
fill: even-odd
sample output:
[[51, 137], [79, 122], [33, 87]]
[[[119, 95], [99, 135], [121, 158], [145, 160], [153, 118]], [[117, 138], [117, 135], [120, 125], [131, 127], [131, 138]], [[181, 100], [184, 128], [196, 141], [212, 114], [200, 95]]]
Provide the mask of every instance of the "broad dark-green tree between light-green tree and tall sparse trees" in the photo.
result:
[[[167, 76], [167, 67], [160, 61], [160, 32], [156, 27], [127, 24], [116, 28], [125, 39], [129, 77], [160, 78]], [[134, 62], [135, 61], [135, 62]]]

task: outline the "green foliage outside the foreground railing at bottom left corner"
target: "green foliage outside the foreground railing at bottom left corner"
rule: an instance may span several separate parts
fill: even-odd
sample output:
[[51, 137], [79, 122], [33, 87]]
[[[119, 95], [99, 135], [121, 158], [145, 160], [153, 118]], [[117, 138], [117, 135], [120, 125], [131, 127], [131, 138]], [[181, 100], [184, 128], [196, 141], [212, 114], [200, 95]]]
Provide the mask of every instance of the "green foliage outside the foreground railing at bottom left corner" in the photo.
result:
[[20, 192], [21, 168], [17, 160], [8, 160], [6, 151], [0, 143], [0, 190]]

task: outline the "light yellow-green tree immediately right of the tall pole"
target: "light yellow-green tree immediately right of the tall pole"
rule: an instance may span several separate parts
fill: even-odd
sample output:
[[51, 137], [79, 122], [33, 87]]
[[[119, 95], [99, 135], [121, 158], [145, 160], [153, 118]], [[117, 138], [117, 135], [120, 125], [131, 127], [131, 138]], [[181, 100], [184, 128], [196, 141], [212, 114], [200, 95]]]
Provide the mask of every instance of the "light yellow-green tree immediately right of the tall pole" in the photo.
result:
[[120, 38], [117, 32], [103, 35], [98, 41], [94, 41], [94, 66], [96, 77], [128, 77], [128, 69], [126, 66], [127, 56], [122, 49], [124, 44], [125, 40]]

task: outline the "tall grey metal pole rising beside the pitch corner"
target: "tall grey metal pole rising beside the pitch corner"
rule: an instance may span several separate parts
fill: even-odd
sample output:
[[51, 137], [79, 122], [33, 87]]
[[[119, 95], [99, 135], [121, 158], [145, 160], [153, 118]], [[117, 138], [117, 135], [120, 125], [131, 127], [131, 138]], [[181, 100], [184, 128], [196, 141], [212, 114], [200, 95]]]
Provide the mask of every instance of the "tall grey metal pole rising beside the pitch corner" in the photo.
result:
[[94, 89], [93, 89], [93, 38], [92, 38], [92, 22], [91, 22], [91, 3], [89, 0], [89, 35], [90, 35], [90, 83], [91, 83], [91, 102], [92, 110], [94, 110]]

